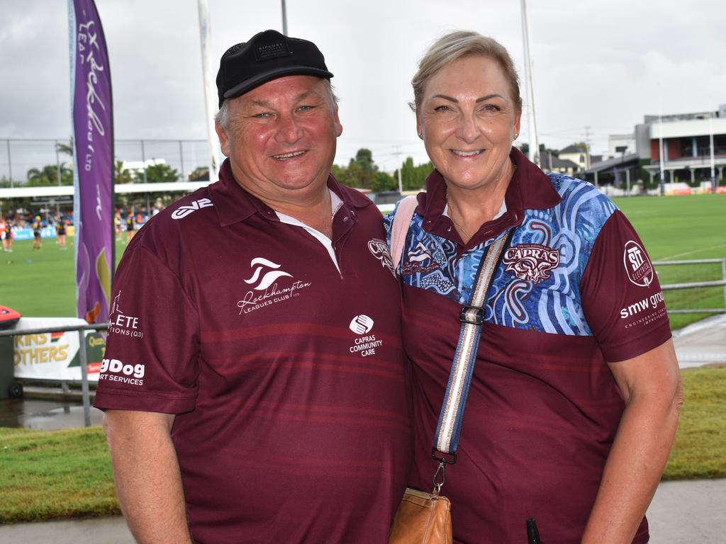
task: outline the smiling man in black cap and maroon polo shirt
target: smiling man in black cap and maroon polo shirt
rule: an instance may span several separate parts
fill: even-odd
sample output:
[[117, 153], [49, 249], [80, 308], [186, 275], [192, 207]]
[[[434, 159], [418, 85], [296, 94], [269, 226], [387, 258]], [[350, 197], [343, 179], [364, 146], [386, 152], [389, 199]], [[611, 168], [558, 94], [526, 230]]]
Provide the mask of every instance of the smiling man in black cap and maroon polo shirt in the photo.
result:
[[387, 541], [410, 454], [399, 288], [380, 213], [330, 176], [331, 77], [273, 30], [229, 49], [220, 180], [118, 268], [95, 403], [139, 542]]

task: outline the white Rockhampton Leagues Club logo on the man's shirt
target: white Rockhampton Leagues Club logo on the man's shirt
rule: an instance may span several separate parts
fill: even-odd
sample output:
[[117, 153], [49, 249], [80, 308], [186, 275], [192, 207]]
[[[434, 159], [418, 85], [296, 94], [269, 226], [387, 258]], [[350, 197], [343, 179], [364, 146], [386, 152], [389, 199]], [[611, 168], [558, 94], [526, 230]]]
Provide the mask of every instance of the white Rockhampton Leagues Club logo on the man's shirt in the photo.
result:
[[252, 289], [237, 301], [240, 316], [299, 297], [303, 289], [311, 286], [311, 282], [296, 280], [292, 274], [282, 270], [282, 265], [264, 257], [251, 260], [250, 269], [252, 276], [245, 279], [245, 284]]

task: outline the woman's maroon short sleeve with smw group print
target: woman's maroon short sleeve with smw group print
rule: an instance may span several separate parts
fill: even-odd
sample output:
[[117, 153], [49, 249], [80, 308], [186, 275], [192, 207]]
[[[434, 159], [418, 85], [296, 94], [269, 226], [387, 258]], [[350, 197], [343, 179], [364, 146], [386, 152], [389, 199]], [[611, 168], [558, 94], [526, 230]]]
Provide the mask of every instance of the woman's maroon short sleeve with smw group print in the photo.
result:
[[580, 292], [585, 318], [605, 360], [642, 355], [671, 337], [656, 270], [619, 210], [597, 235]]

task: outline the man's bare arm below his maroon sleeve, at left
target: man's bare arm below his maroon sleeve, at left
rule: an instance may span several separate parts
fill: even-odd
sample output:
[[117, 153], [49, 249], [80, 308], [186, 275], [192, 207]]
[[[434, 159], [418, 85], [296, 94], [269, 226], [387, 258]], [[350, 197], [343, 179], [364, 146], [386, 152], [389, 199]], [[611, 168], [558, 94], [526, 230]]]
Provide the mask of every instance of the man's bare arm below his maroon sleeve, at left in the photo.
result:
[[173, 423], [168, 413], [107, 410], [103, 418], [116, 495], [139, 544], [192, 543]]

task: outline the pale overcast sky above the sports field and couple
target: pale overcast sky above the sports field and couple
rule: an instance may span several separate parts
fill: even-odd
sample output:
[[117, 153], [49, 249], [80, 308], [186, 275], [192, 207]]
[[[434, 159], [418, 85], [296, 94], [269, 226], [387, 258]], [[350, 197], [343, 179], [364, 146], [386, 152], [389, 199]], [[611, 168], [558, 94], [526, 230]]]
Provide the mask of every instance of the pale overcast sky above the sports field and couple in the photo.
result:
[[[109, 49], [116, 138], [205, 138], [197, 1], [96, 4]], [[209, 4], [215, 74], [232, 44], [260, 30], [282, 30], [279, 0]], [[496, 38], [524, 77], [516, 0], [286, 4], [289, 35], [314, 41], [335, 74], [339, 164], [361, 147], [384, 170], [408, 155], [426, 160], [407, 107], [410, 81], [423, 51], [450, 30]], [[527, 6], [537, 128], [548, 147], [589, 139], [597, 154], [607, 149], [609, 134], [631, 132], [643, 115], [726, 103], [722, 0], [529, 0]], [[0, 0], [0, 139], [68, 139], [69, 86], [67, 1]], [[530, 112], [525, 102], [520, 141], [528, 138]]]

